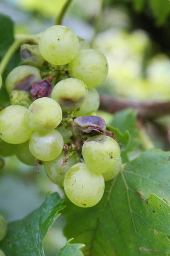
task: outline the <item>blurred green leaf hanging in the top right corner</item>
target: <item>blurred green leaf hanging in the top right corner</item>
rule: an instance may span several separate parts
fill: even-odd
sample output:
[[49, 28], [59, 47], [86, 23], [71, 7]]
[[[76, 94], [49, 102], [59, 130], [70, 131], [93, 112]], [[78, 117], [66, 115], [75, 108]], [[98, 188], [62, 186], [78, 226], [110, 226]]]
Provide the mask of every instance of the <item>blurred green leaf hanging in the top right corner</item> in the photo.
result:
[[170, 1], [169, 0], [150, 0], [150, 6], [153, 14], [157, 18], [157, 24], [162, 25], [167, 20], [170, 14]]

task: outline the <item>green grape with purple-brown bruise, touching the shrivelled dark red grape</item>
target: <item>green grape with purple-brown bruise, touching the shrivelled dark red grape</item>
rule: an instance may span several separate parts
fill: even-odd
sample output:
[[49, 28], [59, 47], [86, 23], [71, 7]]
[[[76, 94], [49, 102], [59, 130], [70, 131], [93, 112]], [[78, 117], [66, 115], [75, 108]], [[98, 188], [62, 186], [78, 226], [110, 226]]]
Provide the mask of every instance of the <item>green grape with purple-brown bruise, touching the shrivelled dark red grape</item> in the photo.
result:
[[6, 90], [10, 93], [12, 90], [25, 90], [27, 92], [31, 89], [31, 84], [40, 81], [40, 70], [36, 67], [23, 65], [14, 68], [7, 76]]

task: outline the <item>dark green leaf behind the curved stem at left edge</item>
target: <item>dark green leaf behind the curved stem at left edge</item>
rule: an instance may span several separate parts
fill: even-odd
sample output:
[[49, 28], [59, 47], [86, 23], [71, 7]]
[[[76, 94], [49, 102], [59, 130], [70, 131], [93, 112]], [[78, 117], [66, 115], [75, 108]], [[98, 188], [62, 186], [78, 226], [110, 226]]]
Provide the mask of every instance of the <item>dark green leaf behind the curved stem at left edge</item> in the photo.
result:
[[[8, 48], [11, 46], [13, 42], [14, 42], [14, 23], [9, 17], [3, 14], [0, 14], [0, 61], [2, 60], [3, 56], [5, 55]], [[0, 105], [3, 105], [9, 101], [9, 96], [5, 88], [5, 80], [8, 73], [11, 70], [13, 70], [14, 67], [17, 67], [19, 63], [20, 63], [20, 53], [18, 51], [11, 58], [11, 61], [9, 61], [7, 68], [3, 73], [3, 77], [2, 77], [3, 86], [0, 90]]]

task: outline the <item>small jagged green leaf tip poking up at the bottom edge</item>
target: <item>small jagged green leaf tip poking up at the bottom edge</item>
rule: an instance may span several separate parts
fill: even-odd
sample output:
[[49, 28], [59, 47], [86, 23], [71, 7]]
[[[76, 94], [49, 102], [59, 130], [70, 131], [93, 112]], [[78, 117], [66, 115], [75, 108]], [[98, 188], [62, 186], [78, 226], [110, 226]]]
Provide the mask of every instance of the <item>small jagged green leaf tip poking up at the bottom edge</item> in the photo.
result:
[[79, 250], [84, 247], [84, 244], [70, 244], [70, 241], [73, 239], [68, 240], [67, 244], [59, 251], [57, 256], [83, 256], [84, 254]]

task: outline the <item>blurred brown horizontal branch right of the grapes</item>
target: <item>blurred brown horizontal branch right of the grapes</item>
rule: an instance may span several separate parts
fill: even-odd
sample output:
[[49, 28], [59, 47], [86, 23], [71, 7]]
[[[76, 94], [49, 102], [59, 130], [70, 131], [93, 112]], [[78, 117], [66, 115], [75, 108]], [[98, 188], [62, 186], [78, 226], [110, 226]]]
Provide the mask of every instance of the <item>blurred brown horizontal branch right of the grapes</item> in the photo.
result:
[[113, 96], [100, 95], [100, 110], [115, 113], [125, 108], [133, 108], [139, 116], [155, 118], [162, 114], [170, 113], [170, 102], [140, 102], [128, 99], [114, 98]]

